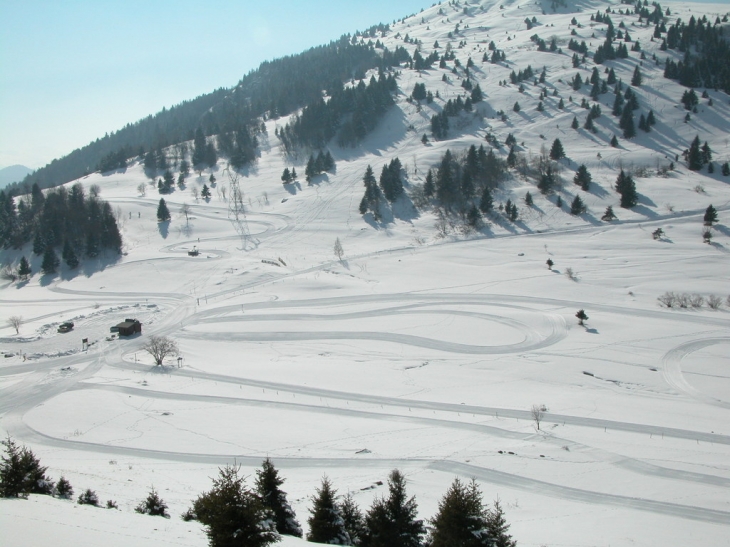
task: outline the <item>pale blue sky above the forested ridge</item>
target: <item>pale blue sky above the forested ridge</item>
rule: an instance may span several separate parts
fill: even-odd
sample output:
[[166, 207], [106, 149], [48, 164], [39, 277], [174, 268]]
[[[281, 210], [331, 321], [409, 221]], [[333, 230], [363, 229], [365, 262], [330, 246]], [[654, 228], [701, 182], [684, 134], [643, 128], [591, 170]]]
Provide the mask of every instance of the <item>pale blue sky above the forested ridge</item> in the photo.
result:
[[428, 0], [0, 0], [0, 168], [42, 167]]

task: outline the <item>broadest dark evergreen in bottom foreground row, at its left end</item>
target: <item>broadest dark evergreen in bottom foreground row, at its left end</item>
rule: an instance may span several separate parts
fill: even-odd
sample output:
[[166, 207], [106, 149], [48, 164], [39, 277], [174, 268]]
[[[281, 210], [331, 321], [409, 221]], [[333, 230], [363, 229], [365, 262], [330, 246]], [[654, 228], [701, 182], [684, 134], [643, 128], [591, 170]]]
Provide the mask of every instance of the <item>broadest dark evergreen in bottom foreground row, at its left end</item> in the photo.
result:
[[198, 496], [188, 512], [207, 527], [211, 547], [265, 547], [279, 541], [273, 516], [238, 475], [226, 466], [213, 488]]

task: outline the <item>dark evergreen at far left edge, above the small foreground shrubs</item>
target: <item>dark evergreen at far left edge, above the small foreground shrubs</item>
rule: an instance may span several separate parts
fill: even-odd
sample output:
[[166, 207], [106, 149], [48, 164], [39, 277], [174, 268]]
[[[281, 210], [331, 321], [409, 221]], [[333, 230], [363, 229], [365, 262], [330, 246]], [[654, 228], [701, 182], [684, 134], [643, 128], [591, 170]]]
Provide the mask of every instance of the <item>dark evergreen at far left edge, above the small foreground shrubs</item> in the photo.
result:
[[46, 467], [40, 464], [33, 451], [7, 437], [0, 441], [3, 456], [0, 461], [0, 496], [27, 497], [28, 494], [50, 494], [53, 483], [46, 477]]

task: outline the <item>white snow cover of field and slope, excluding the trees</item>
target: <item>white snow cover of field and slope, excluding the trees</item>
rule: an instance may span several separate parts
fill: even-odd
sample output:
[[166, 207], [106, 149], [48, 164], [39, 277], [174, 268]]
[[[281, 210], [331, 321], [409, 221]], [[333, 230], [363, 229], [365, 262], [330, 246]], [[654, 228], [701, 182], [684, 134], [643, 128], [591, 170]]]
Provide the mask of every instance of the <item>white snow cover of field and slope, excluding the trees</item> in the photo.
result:
[[[139, 165], [82, 179], [119, 208], [125, 253], [52, 278], [3, 282], [0, 428], [30, 446], [52, 477], [116, 500], [119, 511], [36, 496], [0, 500], [2, 542], [204, 545], [201, 527], [178, 515], [210, 487], [218, 466], [237, 462], [253, 475], [269, 456], [302, 523], [323, 474], [365, 510], [387, 488], [376, 482], [398, 467], [424, 519], [455, 476], [475, 477], [487, 500], [501, 500], [520, 545], [730, 544], [730, 308], [667, 309], [657, 301], [667, 291], [723, 301], [730, 294], [730, 179], [719, 169], [691, 173], [680, 161], [668, 178], [636, 179], [641, 199], [631, 211], [618, 207], [612, 188], [619, 165], [655, 168], [698, 133], [716, 162], [727, 161], [730, 105], [709, 90], [713, 110], [703, 106], [685, 124], [677, 107], [683, 88], [645, 62], [651, 83], [638, 92], [658, 115], [655, 132], [607, 147], [618, 131], [612, 93], [601, 96], [609, 104], [596, 120], [598, 136], [570, 129], [583, 112], [575, 98], [589, 88], [568, 87], [577, 70], [567, 48], [535, 52], [528, 38], [535, 29], [522, 20], [537, 15], [541, 37], [567, 43], [576, 16], [584, 25], [578, 38], [588, 39], [603, 28], [589, 27], [598, 5], [542, 15], [516, 1], [464, 15], [463, 4], [444, 3], [445, 15], [436, 6], [395, 25], [388, 47], [409, 33], [428, 52], [435, 40], [445, 46], [463, 19], [469, 29], [452, 42], [462, 65], [468, 51], [478, 61], [483, 119], [466, 119], [452, 140], [424, 146], [439, 103], [418, 111], [405, 95], [417, 81], [443, 98], [463, 90], [456, 78], [442, 82], [449, 71], [404, 70], [405, 95], [379, 129], [355, 151], [331, 149], [336, 173], [296, 187], [283, 186], [280, 175], [286, 166], [303, 173], [306, 157], [286, 158], [274, 135], [286, 120], [269, 120], [262, 155], [241, 177], [246, 239], [229, 220], [222, 161], [210, 202], [189, 191], [209, 173], [191, 175], [187, 190], [165, 196], [173, 218], [163, 224], [156, 190], [138, 194], [146, 180]], [[684, 19], [689, 9], [713, 20], [725, 9], [670, 6]], [[653, 27], [630, 28], [647, 55], [658, 49]], [[456, 49], [460, 40], [467, 45]], [[574, 103], [538, 113], [528, 107], [539, 93], [531, 83], [522, 95], [496, 85], [511, 68], [481, 63], [490, 40], [515, 69], [547, 65], [549, 87]], [[626, 82], [635, 63], [611, 66]], [[519, 116], [511, 111], [518, 95]], [[490, 117], [500, 109], [508, 123]], [[379, 173], [397, 156], [415, 184], [447, 148], [484, 143], [487, 131], [501, 141], [514, 133], [528, 154], [559, 137], [569, 158], [559, 195], [570, 203], [580, 192], [570, 179], [585, 163], [595, 181], [580, 192], [589, 212], [571, 216], [534, 181], [515, 178], [495, 202], [519, 200], [520, 222], [495, 213], [479, 233], [440, 234], [430, 211], [407, 204], [387, 224], [358, 213], [368, 164]], [[527, 190], [533, 208], [521, 201]], [[708, 245], [701, 233], [710, 203], [720, 221]], [[619, 221], [598, 220], [608, 205]], [[666, 234], [660, 240], [652, 238], [657, 228]], [[188, 256], [193, 247], [199, 256]], [[2, 251], [4, 261], [20, 254]], [[585, 326], [579, 309], [589, 316]], [[11, 315], [23, 316], [18, 335], [6, 326]], [[126, 317], [142, 321], [142, 335], [111, 339], [109, 327]], [[64, 321], [76, 327], [58, 334]], [[153, 366], [141, 349], [152, 334], [179, 344], [181, 366], [174, 359]], [[548, 409], [539, 430], [533, 405]], [[152, 486], [172, 519], [133, 512]]]

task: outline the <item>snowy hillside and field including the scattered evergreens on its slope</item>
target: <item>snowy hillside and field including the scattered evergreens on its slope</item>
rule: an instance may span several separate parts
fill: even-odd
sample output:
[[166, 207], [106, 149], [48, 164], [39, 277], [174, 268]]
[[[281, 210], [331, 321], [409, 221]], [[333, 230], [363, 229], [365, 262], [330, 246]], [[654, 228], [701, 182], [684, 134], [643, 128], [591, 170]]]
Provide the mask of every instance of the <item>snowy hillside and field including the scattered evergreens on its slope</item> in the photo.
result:
[[[118, 505], [2, 499], [3, 534], [204, 545], [179, 516], [269, 457], [305, 534], [323, 474], [367, 511], [398, 468], [427, 524], [474, 478], [518, 545], [727, 545], [730, 96], [701, 55], [727, 19], [442, 2], [250, 133], [3, 194], [0, 429]], [[120, 253], [53, 216], [73, 195]], [[151, 487], [170, 520], [134, 513]]]

